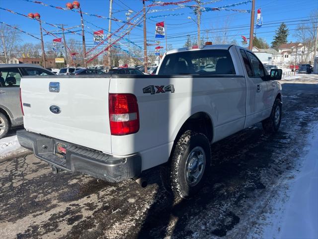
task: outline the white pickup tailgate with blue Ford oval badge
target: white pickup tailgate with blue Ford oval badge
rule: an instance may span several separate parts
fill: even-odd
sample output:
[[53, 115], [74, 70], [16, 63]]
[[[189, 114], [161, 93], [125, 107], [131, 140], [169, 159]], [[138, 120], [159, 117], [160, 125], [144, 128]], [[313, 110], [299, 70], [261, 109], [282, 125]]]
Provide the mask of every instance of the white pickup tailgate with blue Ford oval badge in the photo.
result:
[[[24, 77], [20, 86], [24, 127], [32, 132], [111, 153], [109, 81], [107, 76]], [[50, 82], [60, 83], [59, 92], [49, 91]], [[59, 109], [58, 114], [52, 113], [52, 106], [55, 110]]]

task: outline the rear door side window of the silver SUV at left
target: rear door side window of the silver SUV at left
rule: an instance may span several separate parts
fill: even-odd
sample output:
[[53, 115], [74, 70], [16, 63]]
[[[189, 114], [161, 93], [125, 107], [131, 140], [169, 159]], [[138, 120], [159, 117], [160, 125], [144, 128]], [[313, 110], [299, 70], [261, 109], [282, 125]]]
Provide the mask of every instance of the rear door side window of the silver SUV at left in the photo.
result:
[[21, 73], [18, 68], [0, 68], [0, 87], [19, 87]]

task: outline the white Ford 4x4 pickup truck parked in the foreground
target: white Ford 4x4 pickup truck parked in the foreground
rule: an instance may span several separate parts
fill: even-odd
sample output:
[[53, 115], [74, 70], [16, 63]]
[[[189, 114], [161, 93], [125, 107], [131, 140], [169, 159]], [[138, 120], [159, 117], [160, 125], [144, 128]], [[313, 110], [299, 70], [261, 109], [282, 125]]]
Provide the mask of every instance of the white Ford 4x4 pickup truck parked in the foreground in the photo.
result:
[[185, 198], [203, 185], [211, 143], [257, 122], [266, 132], [280, 126], [282, 70], [268, 75], [247, 49], [171, 50], [157, 73], [24, 77], [18, 140], [54, 172], [110, 182], [164, 164]]

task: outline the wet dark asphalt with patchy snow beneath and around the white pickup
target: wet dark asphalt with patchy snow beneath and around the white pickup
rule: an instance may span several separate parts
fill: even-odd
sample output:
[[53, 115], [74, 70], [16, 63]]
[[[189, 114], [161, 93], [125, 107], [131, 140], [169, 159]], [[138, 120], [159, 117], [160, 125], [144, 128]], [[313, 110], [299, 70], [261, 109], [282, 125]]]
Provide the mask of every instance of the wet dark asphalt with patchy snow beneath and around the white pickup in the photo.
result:
[[174, 201], [159, 168], [141, 188], [54, 175], [33, 154], [0, 163], [0, 238], [257, 238], [318, 122], [318, 82], [282, 83], [280, 131], [265, 135], [257, 124], [213, 144], [207, 183], [189, 200]]

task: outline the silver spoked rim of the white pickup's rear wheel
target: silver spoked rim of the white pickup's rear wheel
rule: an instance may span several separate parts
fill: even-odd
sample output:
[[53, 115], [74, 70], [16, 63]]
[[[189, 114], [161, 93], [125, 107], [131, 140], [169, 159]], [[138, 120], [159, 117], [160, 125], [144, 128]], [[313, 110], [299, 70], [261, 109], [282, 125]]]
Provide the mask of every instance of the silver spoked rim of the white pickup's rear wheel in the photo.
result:
[[185, 163], [185, 181], [189, 186], [197, 185], [204, 173], [206, 155], [202, 147], [197, 146], [189, 153]]

